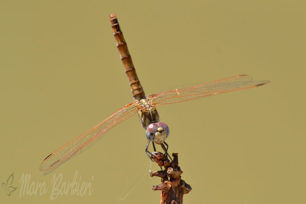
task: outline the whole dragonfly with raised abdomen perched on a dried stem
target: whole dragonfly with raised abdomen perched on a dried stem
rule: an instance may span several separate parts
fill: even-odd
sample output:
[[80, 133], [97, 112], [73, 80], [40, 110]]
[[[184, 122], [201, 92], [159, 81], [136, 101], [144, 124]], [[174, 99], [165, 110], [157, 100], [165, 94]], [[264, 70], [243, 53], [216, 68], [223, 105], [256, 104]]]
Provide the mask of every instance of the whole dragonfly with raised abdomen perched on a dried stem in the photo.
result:
[[146, 154], [151, 158], [152, 153], [148, 151], [150, 142], [152, 142], [155, 152], [156, 149], [154, 143], [161, 145], [162, 149], [167, 152], [168, 144], [165, 140], [169, 136], [170, 130], [165, 122], [159, 120], [156, 106], [258, 87], [270, 82], [268, 80], [253, 81], [252, 77], [248, 75], [238, 75], [208, 83], [200, 83], [191, 86], [178, 86], [158, 94], [146, 96], [136, 74], [116, 14], [110, 15], [110, 22], [121, 61], [129, 80], [134, 101], [125, 105], [95, 127], [71, 140], [47, 156], [39, 168], [41, 171], [46, 170], [45, 174], [50, 173], [69, 159], [91, 147], [101, 139], [107, 131], [132, 117], [136, 113], [139, 116], [142, 127], [146, 130], [146, 137], [148, 140], [145, 147]]

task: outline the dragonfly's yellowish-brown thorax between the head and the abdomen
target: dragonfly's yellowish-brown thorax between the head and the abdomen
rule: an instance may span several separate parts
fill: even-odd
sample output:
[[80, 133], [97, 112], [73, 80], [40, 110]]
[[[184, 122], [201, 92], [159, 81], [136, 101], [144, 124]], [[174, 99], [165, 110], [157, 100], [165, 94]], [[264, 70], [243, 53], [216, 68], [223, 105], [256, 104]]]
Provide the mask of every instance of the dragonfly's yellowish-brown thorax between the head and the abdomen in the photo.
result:
[[137, 100], [135, 102], [140, 108], [138, 111], [138, 116], [143, 128], [147, 128], [147, 126], [151, 123], [159, 122], [159, 115], [154, 102], [147, 98], [139, 101]]

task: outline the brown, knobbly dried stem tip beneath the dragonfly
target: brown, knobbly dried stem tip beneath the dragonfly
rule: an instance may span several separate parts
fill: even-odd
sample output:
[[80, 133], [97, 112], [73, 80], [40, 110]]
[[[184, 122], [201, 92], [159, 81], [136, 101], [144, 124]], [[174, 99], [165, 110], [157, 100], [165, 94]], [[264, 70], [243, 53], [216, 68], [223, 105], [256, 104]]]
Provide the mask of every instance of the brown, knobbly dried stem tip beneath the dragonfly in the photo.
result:
[[182, 204], [183, 195], [192, 190], [189, 184], [186, 184], [181, 179], [183, 171], [178, 166], [178, 154], [173, 153], [173, 161], [169, 161], [166, 155], [161, 152], [153, 152], [151, 158], [159, 165], [163, 166], [165, 170], [156, 172], [150, 171], [150, 176], [158, 176], [162, 178], [162, 184], [152, 187], [153, 191], [161, 192], [160, 204]]

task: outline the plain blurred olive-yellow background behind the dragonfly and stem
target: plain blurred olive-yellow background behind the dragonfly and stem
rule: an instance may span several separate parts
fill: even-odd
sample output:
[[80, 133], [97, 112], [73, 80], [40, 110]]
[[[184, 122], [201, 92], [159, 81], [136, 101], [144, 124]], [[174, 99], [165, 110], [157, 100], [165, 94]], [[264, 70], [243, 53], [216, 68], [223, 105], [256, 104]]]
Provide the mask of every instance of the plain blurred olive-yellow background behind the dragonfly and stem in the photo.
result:
[[[0, 1], [1, 203], [159, 203], [137, 116], [44, 176], [43, 159], [132, 101], [116, 13], [147, 95], [239, 74], [258, 88], [158, 106], [185, 203], [305, 203], [304, 1]], [[151, 167], [149, 165], [152, 165]], [[50, 201], [54, 174], [91, 195]], [[22, 174], [46, 182], [21, 195]], [[81, 180], [79, 179], [81, 176]], [[93, 176], [93, 179], [91, 179]], [[123, 200], [120, 200], [124, 198]]]

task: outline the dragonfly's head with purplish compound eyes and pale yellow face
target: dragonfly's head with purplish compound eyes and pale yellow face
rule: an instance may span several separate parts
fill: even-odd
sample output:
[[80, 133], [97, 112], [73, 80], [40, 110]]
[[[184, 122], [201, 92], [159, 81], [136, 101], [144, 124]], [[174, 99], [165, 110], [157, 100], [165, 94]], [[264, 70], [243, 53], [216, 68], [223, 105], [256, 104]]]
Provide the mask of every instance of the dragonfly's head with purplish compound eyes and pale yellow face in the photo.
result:
[[147, 139], [151, 142], [155, 142], [157, 144], [163, 143], [166, 138], [169, 136], [170, 130], [166, 123], [157, 122], [151, 123], [147, 127], [146, 136]]

